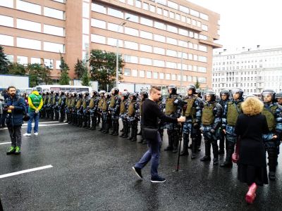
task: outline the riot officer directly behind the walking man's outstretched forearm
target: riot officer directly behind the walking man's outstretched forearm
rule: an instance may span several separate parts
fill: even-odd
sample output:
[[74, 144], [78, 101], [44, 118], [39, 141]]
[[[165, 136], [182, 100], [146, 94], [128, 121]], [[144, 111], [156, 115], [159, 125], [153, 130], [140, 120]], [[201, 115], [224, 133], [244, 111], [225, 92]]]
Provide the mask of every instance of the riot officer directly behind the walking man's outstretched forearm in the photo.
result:
[[[168, 86], [168, 97], [166, 98], [166, 115], [169, 117], [180, 117], [182, 110], [182, 99], [177, 94], [176, 86], [171, 84]], [[178, 152], [178, 141], [180, 126], [178, 123], [166, 123], [166, 129], [168, 134], [168, 146], [164, 149], [165, 151]]]

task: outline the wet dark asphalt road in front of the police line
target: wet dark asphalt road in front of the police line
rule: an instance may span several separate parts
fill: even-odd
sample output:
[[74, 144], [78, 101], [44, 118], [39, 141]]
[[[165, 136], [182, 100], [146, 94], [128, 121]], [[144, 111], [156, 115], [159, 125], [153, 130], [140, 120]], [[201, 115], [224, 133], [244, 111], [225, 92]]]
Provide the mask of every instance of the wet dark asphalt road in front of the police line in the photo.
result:
[[[131, 170], [147, 146], [59, 122], [42, 121], [40, 125], [39, 136], [23, 137], [21, 155], [6, 155], [8, 130], [0, 129], [0, 178], [11, 172], [52, 166], [1, 178], [4, 210], [282, 209], [281, 158], [276, 181], [259, 187], [255, 203], [247, 205], [247, 185], [236, 179], [237, 166], [223, 169], [212, 162], [201, 162], [203, 148], [195, 160], [190, 155], [180, 157], [181, 172], [173, 172], [177, 155], [162, 150], [159, 174], [166, 182], [152, 184], [149, 163], [142, 170], [143, 181]], [[166, 146], [165, 136], [162, 148]], [[224, 155], [220, 163], [223, 159]]]

